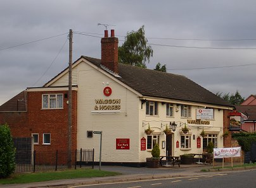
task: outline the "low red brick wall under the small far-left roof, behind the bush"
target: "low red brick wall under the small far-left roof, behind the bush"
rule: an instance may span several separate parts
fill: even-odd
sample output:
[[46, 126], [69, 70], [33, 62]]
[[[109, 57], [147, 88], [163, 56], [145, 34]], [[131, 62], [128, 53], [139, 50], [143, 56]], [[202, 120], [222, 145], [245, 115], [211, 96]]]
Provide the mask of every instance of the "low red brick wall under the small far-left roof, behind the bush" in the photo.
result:
[[30, 137], [27, 112], [0, 112], [0, 124], [7, 123], [13, 137]]

